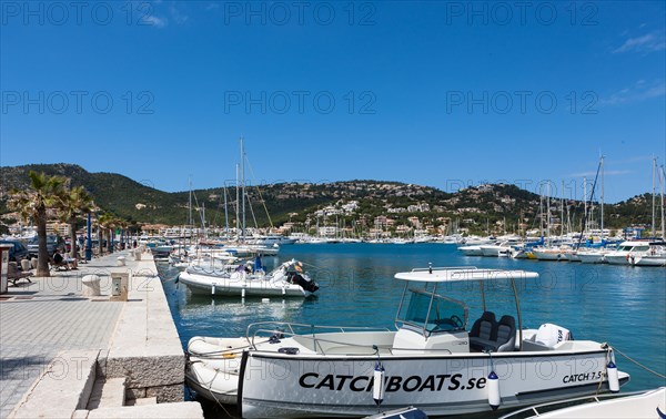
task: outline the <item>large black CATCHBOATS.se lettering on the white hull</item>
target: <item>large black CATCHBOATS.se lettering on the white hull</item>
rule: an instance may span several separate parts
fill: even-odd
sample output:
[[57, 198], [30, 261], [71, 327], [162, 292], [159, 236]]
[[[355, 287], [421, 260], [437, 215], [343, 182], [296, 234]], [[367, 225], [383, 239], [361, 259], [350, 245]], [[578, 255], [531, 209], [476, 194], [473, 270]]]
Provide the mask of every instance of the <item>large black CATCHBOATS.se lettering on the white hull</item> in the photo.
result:
[[[299, 385], [303, 388], [312, 388], [315, 390], [327, 389], [327, 390], [343, 390], [349, 389], [351, 391], [371, 391], [373, 388], [374, 379], [366, 376], [339, 376], [339, 375], [325, 375], [320, 376], [316, 372], [306, 372], [299, 379]], [[466, 382], [463, 379], [462, 374], [444, 374], [444, 375], [431, 375], [426, 377], [422, 376], [387, 376], [384, 385], [386, 392], [394, 391], [442, 391], [442, 390], [472, 390], [485, 388], [485, 377], [472, 377]]]

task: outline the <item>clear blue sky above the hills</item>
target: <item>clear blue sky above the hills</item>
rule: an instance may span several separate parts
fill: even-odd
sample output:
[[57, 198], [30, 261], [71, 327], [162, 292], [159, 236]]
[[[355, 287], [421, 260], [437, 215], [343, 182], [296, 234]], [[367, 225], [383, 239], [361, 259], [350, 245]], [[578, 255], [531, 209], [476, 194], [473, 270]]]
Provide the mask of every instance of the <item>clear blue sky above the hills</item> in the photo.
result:
[[0, 165], [213, 187], [244, 136], [255, 184], [581, 198], [605, 155], [617, 202], [665, 163], [665, 4], [2, 0]]

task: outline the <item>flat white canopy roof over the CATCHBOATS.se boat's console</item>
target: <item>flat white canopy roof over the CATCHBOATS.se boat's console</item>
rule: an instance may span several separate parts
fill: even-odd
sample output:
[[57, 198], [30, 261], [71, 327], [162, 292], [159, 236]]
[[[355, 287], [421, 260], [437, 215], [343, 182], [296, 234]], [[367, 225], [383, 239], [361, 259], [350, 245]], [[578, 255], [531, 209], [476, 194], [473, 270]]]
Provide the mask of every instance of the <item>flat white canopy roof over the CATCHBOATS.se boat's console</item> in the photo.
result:
[[535, 272], [518, 269], [480, 269], [474, 266], [463, 266], [444, 268], [430, 267], [423, 269], [413, 269], [412, 272], [400, 272], [395, 274], [395, 278], [427, 283], [455, 283], [465, 280], [538, 278], [538, 274]]

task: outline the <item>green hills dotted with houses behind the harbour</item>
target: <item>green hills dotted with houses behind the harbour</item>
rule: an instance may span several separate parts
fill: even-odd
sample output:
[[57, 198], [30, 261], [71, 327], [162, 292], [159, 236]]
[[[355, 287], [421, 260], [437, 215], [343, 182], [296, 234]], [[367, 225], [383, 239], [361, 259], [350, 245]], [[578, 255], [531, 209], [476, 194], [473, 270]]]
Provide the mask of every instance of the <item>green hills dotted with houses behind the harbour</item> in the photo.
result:
[[[71, 178], [73, 186], [84, 186], [95, 203], [131, 223], [183, 225], [189, 219], [189, 192], [168, 193], [155, 190], [115, 173], [90, 173], [74, 164], [33, 164], [0, 167], [0, 212], [8, 213], [7, 193], [12, 187], [28, 185], [29, 171], [44, 172]], [[396, 229], [411, 227], [456, 226], [471, 233], [521, 232], [541, 225], [539, 195], [515, 185], [495, 184], [467, 187], [456, 193], [398, 182], [346, 181], [325, 184], [279, 183], [248, 186], [246, 219], [249, 226], [269, 226], [271, 215], [275, 226], [292, 222], [307, 229], [315, 225], [355, 226], [367, 232], [381, 222]], [[235, 188], [226, 190], [230, 225], [235, 219]], [[206, 225], [224, 225], [224, 190], [192, 191], [194, 224], [201, 225], [205, 213]], [[265, 208], [264, 208], [265, 205]], [[350, 209], [353, 207], [353, 209]], [[581, 225], [583, 203], [565, 201], [551, 204], [553, 223], [563, 222], [573, 227]], [[346, 208], [346, 209], [345, 209]], [[635, 196], [618, 204], [605, 206], [606, 226], [619, 228], [628, 225], [649, 225], [652, 196]], [[544, 217], [545, 218], [545, 217]], [[442, 228], [441, 228], [442, 229]]]

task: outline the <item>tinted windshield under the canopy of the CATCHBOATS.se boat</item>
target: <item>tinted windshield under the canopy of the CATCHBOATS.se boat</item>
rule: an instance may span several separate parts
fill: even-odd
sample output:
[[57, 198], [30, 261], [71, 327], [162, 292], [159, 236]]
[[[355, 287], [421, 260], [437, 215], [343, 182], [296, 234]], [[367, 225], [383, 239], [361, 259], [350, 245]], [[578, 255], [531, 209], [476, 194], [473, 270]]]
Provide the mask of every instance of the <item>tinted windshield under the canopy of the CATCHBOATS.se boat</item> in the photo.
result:
[[424, 289], [412, 288], [410, 292], [410, 303], [406, 308], [402, 307], [397, 318], [403, 325], [423, 329], [428, 335], [465, 329], [467, 306], [463, 302]]

